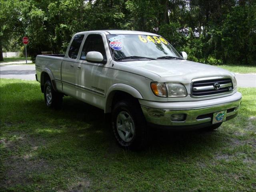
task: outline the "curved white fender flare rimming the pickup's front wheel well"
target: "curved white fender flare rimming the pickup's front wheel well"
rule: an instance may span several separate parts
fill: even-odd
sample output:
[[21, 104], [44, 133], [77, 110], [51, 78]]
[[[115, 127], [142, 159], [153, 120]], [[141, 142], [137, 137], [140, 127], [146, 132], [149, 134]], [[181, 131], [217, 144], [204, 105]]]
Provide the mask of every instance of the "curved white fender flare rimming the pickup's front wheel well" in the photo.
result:
[[105, 103], [104, 113], [111, 112], [112, 99], [114, 97], [114, 94], [117, 91], [128, 93], [134, 98], [143, 99], [142, 94], [136, 88], [123, 83], [113, 84], [112, 86], [110, 86], [106, 94], [106, 103]]

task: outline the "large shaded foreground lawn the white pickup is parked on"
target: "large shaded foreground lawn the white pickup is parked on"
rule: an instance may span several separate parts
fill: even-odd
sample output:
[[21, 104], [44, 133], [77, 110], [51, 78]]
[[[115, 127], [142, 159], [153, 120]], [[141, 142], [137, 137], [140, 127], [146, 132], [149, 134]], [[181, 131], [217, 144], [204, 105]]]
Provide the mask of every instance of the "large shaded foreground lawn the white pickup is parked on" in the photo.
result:
[[103, 111], [70, 97], [49, 110], [35, 81], [0, 82], [0, 191], [255, 191], [256, 88], [212, 132], [155, 131], [119, 148]]

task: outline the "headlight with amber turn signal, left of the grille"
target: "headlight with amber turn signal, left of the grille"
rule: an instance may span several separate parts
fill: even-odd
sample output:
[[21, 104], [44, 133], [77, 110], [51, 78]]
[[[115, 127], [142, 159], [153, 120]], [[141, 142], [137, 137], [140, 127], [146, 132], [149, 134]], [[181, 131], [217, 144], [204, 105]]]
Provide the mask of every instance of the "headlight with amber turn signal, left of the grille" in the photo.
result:
[[186, 97], [187, 90], [180, 83], [159, 83], [152, 82], [150, 87], [158, 97]]

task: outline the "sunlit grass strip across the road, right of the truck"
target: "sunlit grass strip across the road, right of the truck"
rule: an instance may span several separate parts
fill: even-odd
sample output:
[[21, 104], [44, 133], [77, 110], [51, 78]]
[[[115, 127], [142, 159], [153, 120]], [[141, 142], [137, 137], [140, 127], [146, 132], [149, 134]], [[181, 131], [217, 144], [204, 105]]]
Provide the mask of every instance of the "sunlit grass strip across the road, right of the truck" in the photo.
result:
[[216, 67], [220, 67], [234, 73], [256, 73], [256, 66], [250, 65], [218, 65]]

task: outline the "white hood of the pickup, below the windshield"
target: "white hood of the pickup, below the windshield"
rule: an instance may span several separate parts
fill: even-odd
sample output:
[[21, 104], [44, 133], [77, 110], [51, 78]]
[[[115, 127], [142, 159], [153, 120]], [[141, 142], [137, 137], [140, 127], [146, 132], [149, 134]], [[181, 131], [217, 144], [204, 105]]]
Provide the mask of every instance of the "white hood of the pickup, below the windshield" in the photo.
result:
[[173, 81], [177, 78], [179, 81], [183, 79], [190, 82], [194, 78], [234, 76], [231, 72], [222, 68], [188, 60], [140, 60], [122, 62], [122, 64], [153, 72], [160, 76], [159, 82], [161, 79]]

